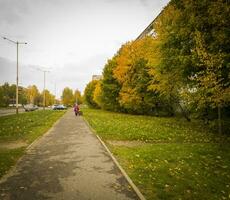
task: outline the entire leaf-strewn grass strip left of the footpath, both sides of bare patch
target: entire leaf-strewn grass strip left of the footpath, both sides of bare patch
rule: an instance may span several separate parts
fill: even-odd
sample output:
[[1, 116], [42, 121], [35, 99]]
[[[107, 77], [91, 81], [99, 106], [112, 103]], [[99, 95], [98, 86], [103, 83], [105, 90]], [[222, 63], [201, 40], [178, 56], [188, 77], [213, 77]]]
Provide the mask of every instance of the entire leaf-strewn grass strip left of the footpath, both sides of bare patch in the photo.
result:
[[[26, 146], [43, 135], [65, 111], [41, 110], [0, 117], [0, 177], [16, 163]], [[23, 142], [24, 147], [7, 148]]]

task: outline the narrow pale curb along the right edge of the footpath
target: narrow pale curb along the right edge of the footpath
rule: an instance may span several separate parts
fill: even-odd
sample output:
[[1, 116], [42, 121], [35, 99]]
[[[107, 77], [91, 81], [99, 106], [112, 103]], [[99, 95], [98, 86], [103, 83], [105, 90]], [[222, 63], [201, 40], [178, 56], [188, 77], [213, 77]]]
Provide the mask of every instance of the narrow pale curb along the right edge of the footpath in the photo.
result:
[[96, 135], [97, 139], [100, 141], [100, 143], [102, 144], [102, 146], [105, 148], [105, 150], [108, 152], [109, 156], [112, 158], [113, 162], [115, 163], [115, 165], [118, 167], [118, 169], [121, 171], [122, 175], [125, 177], [125, 179], [127, 180], [127, 182], [129, 183], [129, 185], [132, 187], [132, 189], [134, 190], [134, 192], [136, 193], [136, 195], [138, 196], [138, 198], [140, 200], [146, 200], [145, 197], [143, 196], [143, 194], [140, 192], [140, 190], [138, 189], [138, 187], [133, 183], [133, 181], [131, 180], [131, 178], [128, 176], [128, 174], [125, 172], [125, 170], [121, 167], [121, 165], [119, 164], [119, 162], [117, 161], [117, 159], [113, 156], [113, 154], [110, 152], [110, 150], [108, 149], [108, 147], [106, 146], [106, 144], [102, 141], [102, 139], [97, 135], [96, 131], [89, 125], [89, 123], [86, 121], [86, 119], [84, 117], [82, 117], [83, 120], [85, 121], [85, 123], [87, 124], [87, 126], [89, 127], [89, 129]]

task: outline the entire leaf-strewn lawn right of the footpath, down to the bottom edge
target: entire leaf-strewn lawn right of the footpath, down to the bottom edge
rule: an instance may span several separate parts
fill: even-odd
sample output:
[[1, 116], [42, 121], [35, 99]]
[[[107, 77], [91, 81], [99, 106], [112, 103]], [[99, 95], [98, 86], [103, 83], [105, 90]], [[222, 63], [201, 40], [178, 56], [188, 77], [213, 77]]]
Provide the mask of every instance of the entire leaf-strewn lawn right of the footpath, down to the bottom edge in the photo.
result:
[[[230, 138], [198, 121], [84, 109], [147, 199], [230, 199]], [[127, 147], [109, 140], [142, 141]]]

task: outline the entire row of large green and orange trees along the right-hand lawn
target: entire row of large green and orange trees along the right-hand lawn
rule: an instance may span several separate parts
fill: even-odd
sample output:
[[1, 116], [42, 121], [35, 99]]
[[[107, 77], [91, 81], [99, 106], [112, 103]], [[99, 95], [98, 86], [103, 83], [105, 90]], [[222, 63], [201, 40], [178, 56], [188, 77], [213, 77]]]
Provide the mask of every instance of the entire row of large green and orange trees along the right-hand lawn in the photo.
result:
[[155, 36], [122, 45], [106, 63], [103, 79], [86, 86], [86, 102], [220, 123], [230, 112], [229, 10], [224, 0], [172, 0], [155, 20]]

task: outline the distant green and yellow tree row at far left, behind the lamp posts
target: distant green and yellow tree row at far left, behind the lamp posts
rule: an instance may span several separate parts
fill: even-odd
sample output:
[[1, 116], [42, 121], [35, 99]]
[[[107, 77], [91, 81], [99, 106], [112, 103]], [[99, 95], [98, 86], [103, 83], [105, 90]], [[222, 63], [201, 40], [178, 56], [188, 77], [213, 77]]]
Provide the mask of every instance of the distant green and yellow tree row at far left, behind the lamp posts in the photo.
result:
[[[45, 92], [45, 106], [52, 105], [56, 102], [55, 96], [49, 90], [39, 92], [36, 85], [28, 86], [27, 88], [19, 86], [19, 104], [32, 103], [38, 106], [43, 105], [43, 97]], [[16, 85], [8, 83], [0, 86], [0, 107], [7, 107], [10, 104], [15, 104]]]

